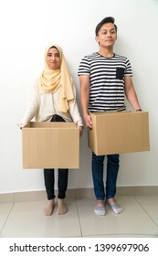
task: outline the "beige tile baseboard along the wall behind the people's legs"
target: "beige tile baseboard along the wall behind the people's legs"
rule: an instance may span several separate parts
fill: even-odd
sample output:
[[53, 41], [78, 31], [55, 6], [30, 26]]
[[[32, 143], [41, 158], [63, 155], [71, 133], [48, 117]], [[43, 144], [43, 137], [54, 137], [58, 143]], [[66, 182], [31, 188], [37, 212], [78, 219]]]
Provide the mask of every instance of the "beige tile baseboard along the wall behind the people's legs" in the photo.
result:
[[[117, 196], [158, 196], [158, 186], [117, 187]], [[68, 189], [67, 197], [94, 197], [93, 188]], [[0, 203], [47, 200], [46, 191], [26, 191], [0, 194]]]

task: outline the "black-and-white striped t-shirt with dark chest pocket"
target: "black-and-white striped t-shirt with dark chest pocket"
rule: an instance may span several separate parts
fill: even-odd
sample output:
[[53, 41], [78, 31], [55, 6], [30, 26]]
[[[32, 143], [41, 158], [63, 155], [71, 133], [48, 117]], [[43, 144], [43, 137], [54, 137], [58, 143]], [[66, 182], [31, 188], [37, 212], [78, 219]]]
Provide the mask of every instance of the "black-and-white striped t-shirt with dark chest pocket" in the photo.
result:
[[78, 75], [90, 76], [90, 112], [123, 111], [124, 76], [132, 77], [129, 59], [115, 54], [105, 58], [95, 52], [81, 59]]

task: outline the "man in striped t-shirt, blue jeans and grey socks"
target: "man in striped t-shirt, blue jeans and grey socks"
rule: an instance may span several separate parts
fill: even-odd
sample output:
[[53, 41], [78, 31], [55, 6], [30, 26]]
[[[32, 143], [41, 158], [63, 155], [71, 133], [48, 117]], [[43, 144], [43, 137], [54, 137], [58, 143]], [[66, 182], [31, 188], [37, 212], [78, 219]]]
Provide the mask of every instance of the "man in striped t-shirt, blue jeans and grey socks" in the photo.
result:
[[[114, 18], [105, 17], [97, 25], [96, 41], [99, 51], [81, 59], [79, 65], [80, 101], [86, 126], [92, 128], [90, 112], [119, 112], [126, 110], [125, 96], [135, 111], [141, 107], [132, 83], [129, 59], [115, 54], [117, 26]], [[122, 208], [115, 200], [119, 171], [119, 155], [107, 155], [106, 189], [103, 180], [105, 155], [92, 152], [92, 177], [97, 204], [94, 212], [105, 215], [105, 199], [111, 209], [120, 214]]]

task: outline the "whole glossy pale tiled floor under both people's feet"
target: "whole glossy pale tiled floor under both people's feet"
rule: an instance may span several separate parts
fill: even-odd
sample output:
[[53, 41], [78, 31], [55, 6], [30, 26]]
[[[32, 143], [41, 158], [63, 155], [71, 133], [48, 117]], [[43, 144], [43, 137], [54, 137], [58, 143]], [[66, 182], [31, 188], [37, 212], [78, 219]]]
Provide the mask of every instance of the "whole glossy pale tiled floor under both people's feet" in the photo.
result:
[[158, 196], [117, 197], [123, 208], [115, 215], [93, 213], [94, 197], [71, 193], [66, 202], [68, 213], [51, 217], [43, 214], [46, 200], [0, 204], [1, 238], [158, 238]]

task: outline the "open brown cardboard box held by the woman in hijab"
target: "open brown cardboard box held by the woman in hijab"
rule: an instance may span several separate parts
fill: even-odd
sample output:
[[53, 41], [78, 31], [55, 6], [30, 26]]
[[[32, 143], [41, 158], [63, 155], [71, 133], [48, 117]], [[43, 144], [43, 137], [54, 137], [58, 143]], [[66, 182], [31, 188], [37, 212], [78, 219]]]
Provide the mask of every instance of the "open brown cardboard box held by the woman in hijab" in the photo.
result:
[[22, 129], [23, 168], [79, 168], [75, 123], [30, 122]]

